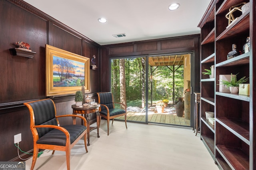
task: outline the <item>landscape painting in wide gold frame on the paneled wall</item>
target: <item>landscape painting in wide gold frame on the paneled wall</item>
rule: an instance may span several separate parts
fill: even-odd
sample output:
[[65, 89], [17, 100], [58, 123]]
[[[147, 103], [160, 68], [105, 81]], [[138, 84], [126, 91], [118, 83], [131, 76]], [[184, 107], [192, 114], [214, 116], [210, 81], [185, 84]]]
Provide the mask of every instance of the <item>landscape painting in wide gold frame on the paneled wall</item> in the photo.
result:
[[90, 90], [90, 59], [46, 44], [46, 96]]

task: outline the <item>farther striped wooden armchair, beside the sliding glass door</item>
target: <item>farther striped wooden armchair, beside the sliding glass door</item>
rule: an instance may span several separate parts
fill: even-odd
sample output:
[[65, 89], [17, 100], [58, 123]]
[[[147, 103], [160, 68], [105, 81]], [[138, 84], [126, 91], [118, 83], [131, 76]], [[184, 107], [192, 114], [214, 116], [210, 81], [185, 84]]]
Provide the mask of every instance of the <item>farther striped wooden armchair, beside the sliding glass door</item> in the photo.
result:
[[[111, 92], [101, 92], [98, 94], [98, 102], [100, 103], [100, 116], [104, 117], [108, 123], [108, 135], [109, 135], [109, 121], [112, 119], [112, 124], [114, 118], [123, 116], [125, 117], [125, 126], [126, 124], [126, 105], [120, 102], [114, 102], [113, 94]], [[120, 104], [124, 106], [125, 109], [115, 108], [114, 104]]]

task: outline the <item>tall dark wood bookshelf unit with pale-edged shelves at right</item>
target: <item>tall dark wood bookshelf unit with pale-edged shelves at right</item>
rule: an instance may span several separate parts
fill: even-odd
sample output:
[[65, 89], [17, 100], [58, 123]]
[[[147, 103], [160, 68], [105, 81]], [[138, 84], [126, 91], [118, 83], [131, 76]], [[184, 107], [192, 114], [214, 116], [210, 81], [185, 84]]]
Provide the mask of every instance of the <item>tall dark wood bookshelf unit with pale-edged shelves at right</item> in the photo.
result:
[[[243, 14], [240, 12], [228, 25], [226, 14], [230, 7], [242, 2], [250, 2], [250, 9]], [[212, 0], [198, 25], [201, 28], [201, 73], [215, 66], [214, 78], [201, 74], [200, 138], [221, 170], [256, 170], [255, 6], [256, 0]], [[250, 52], [227, 60], [232, 44], [242, 51], [246, 37], [250, 37]], [[250, 78], [247, 82], [250, 82], [250, 96], [220, 92], [219, 76], [231, 73], [239, 73], [238, 79]], [[214, 125], [206, 120], [205, 111], [214, 112]]]

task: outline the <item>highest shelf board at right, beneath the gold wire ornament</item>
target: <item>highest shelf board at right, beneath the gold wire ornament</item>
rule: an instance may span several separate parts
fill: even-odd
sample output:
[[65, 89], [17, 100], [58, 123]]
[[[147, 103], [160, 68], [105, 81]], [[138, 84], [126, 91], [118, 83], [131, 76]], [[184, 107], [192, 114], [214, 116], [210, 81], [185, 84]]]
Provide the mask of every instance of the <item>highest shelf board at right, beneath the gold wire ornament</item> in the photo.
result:
[[216, 37], [216, 41], [224, 38], [228, 38], [230, 36], [236, 36], [239, 33], [249, 30], [249, 27], [250, 27], [249, 11], [250, 10], [247, 10], [236, 21], [230, 23], [230, 26], [226, 28], [218, 37]]

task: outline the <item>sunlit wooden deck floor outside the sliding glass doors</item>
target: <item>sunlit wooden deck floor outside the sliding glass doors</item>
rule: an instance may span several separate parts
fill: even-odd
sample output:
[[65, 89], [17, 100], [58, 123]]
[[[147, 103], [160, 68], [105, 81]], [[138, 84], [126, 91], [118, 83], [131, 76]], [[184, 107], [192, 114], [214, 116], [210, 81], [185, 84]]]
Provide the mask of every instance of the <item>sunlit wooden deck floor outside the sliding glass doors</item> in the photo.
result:
[[[122, 117], [117, 117], [116, 119], [123, 119]], [[145, 112], [135, 112], [135, 111], [128, 111], [127, 112], [127, 120], [130, 121], [146, 121], [146, 113]], [[178, 117], [174, 112], [164, 112], [164, 113], [155, 113], [149, 111], [148, 113], [148, 122], [153, 123], [164, 123], [169, 125], [183, 125], [183, 126], [190, 126], [190, 120], [184, 119], [184, 117]]]

